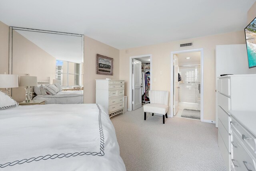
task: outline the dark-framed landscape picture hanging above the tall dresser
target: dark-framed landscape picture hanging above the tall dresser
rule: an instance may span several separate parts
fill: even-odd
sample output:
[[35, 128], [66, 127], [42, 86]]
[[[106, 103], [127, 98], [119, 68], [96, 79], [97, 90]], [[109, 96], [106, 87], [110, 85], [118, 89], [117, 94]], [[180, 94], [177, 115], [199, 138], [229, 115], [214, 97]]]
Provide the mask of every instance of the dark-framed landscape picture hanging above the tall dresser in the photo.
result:
[[97, 54], [97, 74], [113, 75], [113, 58]]

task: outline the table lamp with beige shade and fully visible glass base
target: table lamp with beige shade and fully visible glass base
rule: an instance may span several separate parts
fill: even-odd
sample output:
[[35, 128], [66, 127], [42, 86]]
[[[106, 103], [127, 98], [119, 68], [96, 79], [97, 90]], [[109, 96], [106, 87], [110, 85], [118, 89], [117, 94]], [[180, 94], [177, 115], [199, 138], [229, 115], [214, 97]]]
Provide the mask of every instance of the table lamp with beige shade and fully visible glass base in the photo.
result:
[[32, 86], [37, 86], [37, 77], [20, 76], [20, 86], [26, 86], [26, 102], [32, 100]]

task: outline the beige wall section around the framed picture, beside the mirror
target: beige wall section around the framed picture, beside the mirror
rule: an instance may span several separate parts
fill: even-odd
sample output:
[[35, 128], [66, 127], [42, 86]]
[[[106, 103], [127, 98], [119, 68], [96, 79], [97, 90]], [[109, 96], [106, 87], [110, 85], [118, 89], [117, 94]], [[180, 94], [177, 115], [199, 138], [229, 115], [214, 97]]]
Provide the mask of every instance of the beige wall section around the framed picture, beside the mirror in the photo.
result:
[[[114, 58], [113, 75], [96, 74], [97, 53]], [[95, 103], [95, 79], [119, 79], [119, 68], [118, 49], [84, 36], [84, 103]]]

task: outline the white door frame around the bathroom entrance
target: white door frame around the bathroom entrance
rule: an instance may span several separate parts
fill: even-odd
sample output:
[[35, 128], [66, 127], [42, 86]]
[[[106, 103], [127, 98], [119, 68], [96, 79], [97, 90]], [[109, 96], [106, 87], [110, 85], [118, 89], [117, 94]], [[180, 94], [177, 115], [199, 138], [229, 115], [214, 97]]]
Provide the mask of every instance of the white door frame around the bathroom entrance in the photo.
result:
[[[174, 51], [171, 52], [171, 117], [173, 117], [173, 108], [174, 108], [174, 54], [179, 54], [179, 53], [189, 53], [189, 52], [200, 52], [201, 55], [201, 83], [200, 83], [200, 88], [201, 88], [201, 94], [200, 94], [200, 103], [201, 103], [201, 108], [200, 108], [200, 120], [201, 122], [208, 122], [204, 121], [204, 48], [201, 49], [192, 49], [192, 50], [184, 50], [184, 51]], [[151, 81], [151, 80], [150, 80]]]

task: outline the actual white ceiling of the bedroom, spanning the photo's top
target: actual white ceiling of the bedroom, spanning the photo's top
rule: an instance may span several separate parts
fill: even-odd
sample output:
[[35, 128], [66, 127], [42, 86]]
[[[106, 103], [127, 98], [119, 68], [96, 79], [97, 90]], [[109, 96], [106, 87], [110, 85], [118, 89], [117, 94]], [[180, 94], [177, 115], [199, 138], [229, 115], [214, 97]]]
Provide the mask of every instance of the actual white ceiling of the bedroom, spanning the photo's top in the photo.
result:
[[8, 26], [80, 33], [117, 49], [242, 30], [255, 0], [1, 0]]

